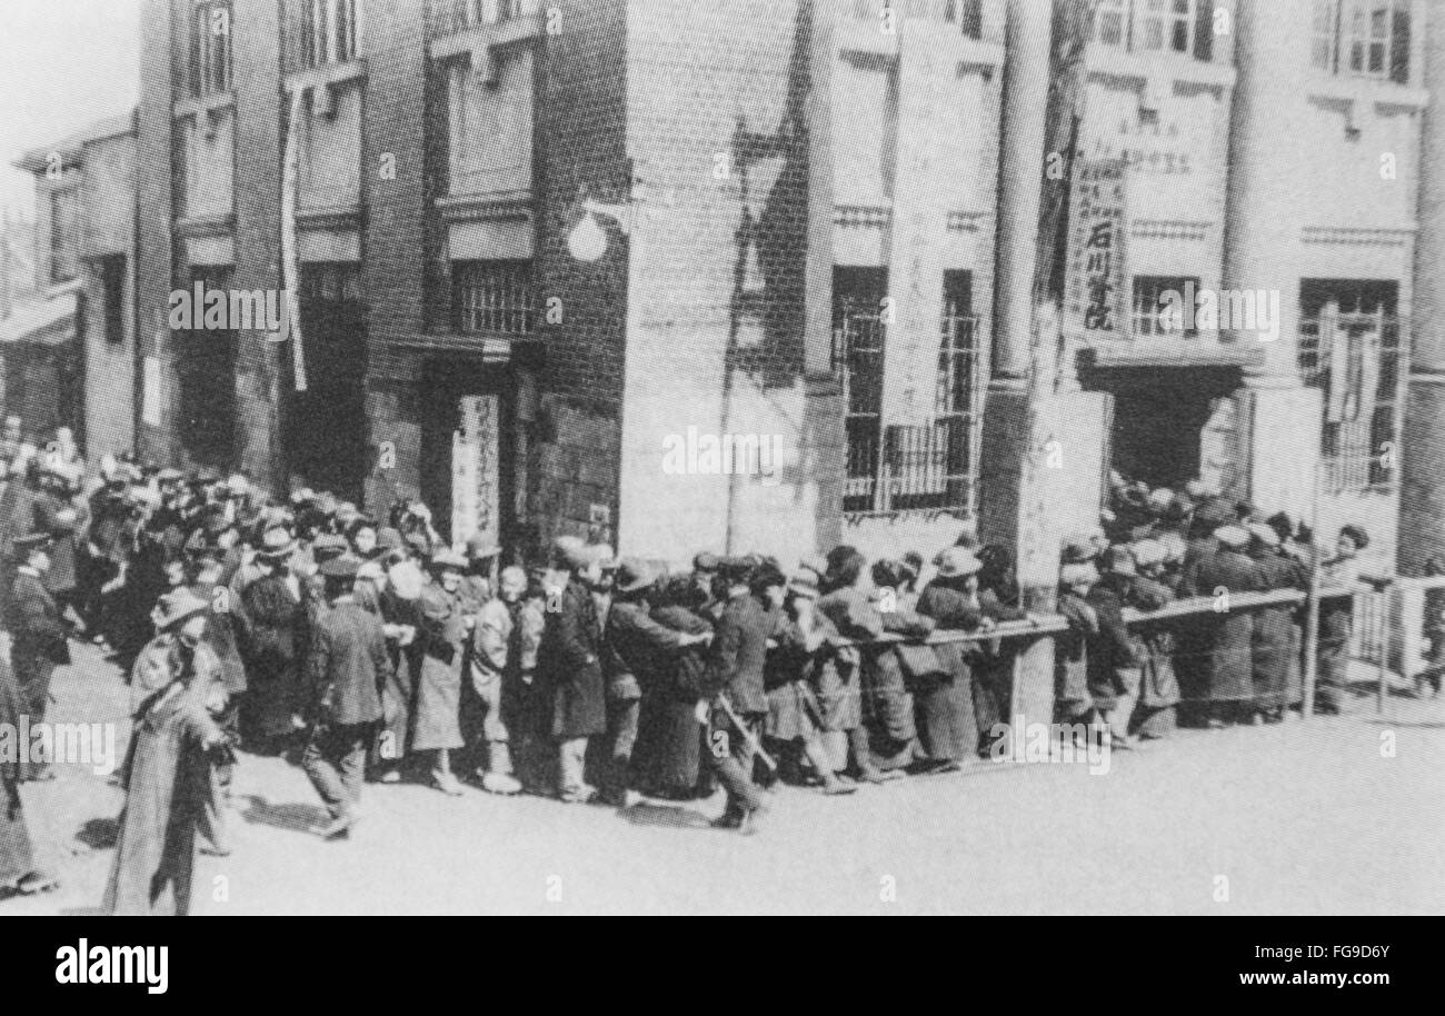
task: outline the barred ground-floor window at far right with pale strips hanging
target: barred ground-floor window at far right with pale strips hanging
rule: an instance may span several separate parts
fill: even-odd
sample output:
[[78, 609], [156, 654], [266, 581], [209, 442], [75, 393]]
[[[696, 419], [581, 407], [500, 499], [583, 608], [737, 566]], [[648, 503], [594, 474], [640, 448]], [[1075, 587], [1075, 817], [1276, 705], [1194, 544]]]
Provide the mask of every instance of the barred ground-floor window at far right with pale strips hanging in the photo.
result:
[[1390, 283], [1302, 286], [1299, 367], [1324, 396], [1328, 493], [1396, 486], [1407, 354], [1394, 306]]

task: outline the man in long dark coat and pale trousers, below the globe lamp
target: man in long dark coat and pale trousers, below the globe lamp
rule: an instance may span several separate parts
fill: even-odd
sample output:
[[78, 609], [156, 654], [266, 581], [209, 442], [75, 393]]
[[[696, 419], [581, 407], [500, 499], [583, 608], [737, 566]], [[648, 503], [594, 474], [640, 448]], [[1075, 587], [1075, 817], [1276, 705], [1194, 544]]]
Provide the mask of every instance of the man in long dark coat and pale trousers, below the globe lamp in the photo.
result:
[[[603, 679], [603, 627], [592, 587], [603, 580], [603, 559], [594, 548], [559, 548], [566, 585], [549, 590], [546, 627], [538, 646], [538, 681], [551, 698], [551, 734], [558, 744], [558, 796], [590, 802], [597, 789], [584, 779], [587, 741], [607, 733]], [[555, 606], [555, 610], [553, 610]]]

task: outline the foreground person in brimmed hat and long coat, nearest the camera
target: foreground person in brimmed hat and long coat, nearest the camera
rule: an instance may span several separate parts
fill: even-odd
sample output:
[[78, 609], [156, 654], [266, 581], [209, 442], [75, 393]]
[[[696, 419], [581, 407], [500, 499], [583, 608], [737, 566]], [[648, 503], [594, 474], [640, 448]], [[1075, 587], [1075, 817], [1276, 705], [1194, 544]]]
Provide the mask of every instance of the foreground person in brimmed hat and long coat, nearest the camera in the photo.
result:
[[184, 916], [210, 769], [225, 756], [215, 723], [218, 663], [201, 643], [210, 604], [179, 588], [160, 601], [160, 634], [136, 660], [140, 699], [124, 775], [116, 857], [103, 909], [116, 916]]

